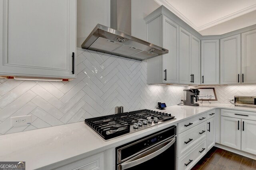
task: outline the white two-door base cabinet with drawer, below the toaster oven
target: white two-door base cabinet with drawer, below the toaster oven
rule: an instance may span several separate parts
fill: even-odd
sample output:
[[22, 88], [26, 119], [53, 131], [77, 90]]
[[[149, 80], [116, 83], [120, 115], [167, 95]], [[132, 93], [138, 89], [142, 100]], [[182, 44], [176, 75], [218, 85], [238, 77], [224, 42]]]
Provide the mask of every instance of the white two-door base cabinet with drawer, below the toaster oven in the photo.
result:
[[220, 144], [251, 154], [256, 154], [255, 113], [228, 109], [222, 109], [221, 112]]

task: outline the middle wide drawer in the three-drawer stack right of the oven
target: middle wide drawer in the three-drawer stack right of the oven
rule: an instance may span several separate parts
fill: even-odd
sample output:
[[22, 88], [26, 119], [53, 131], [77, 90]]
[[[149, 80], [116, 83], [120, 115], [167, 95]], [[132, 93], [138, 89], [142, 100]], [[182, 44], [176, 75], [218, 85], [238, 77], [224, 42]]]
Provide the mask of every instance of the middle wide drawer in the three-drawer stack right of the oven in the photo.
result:
[[206, 121], [178, 134], [178, 157], [206, 137]]

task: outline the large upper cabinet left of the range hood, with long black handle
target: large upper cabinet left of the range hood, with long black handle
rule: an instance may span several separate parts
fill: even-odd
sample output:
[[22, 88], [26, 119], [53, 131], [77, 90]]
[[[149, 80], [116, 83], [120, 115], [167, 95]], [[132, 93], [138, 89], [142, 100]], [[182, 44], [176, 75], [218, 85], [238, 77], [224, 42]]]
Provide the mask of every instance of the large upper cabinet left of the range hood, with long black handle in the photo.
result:
[[76, 78], [76, 0], [1, 0], [0, 23], [0, 75]]

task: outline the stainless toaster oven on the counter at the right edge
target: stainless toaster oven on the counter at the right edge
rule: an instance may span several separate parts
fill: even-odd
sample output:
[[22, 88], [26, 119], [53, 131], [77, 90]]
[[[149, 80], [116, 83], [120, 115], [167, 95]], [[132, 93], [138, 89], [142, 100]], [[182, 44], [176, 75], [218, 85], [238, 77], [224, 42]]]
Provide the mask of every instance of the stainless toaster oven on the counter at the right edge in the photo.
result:
[[256, 107], [256, 96], [234, 96], [234, 105]]

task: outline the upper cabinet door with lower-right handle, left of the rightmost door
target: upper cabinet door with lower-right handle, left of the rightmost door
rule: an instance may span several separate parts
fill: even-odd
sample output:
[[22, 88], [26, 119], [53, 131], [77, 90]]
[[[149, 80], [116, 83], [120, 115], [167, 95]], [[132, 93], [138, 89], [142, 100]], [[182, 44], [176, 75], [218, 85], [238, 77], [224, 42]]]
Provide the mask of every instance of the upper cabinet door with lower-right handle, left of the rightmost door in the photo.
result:
[[220, 39], [220, 84], [241, 84], [241, 35]]

